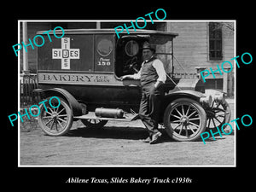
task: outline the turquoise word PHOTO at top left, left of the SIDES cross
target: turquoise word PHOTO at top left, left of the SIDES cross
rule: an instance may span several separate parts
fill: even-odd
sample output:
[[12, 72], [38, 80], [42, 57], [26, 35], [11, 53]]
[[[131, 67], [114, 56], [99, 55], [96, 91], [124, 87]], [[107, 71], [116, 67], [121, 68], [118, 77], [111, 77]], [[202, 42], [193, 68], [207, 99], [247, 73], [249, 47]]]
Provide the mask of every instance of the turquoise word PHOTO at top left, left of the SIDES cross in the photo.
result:
[[[60, 28], [61, 31], [62, 31], [62, 34], [61, 34], [60, 37], [55, 34], [55, 30], [56, 30], [57, 28]], [[47, 36], [48, 36], [48, 38], [49, 38], [49, 42], [52, 42], [51, 38], [49, 37], [49, 32], [50, 32], [50, 31], [51, 31], [51, 30], [49, 30], [49, 31], [47, 31], [47, 32], [44, 32], [43, 34], [47, 34]], [[53, 30], [53, 34], [54, 34], [55, 38], [62, 38], [62, 37], [64, 36], [65, 32], [64, 32], [64, 29], [63, 29], [61, 26], [56, 26], [55, 29]], [[42, 43], [42, 44], [37, 44], [37, 40], [36, 40], [37, 38], [42, 38], [42, 42], [43, 42], [43, 43]], [[32, 49], [34, 49], [34, 46], [33, 46], [33, 44], [32, 44], [32, 40], [31, 40], [30, 38], [28, 38], [28, 41], [29, 41], [29, 44], [24, 44], [23, 41], [21, 42], [21, 44], [23, 44], [24, 49], [26, 50], [26, 53], [27, 53], [26, 47], [31, 46]], [[42, 35], [36, 35], [36, 36], [33, 38], [33, 43], [34, 43], [37, 47], [42, 47], [42, 46], [44, 45], [44, 37], [43, 37]], [[18, 56], [17, 52], [18, 52], [20, 49], [22, 49], [22, 45], [21, 45], [21, 44], [15, 44], [15, 45], [13, 45], [13, 49], [14, 49], [14, 51], [15, 51], [15, 55], [16, 55], [16, 56]], [[18, 47], [18, 49], [15, 49], [15, 47]]]

